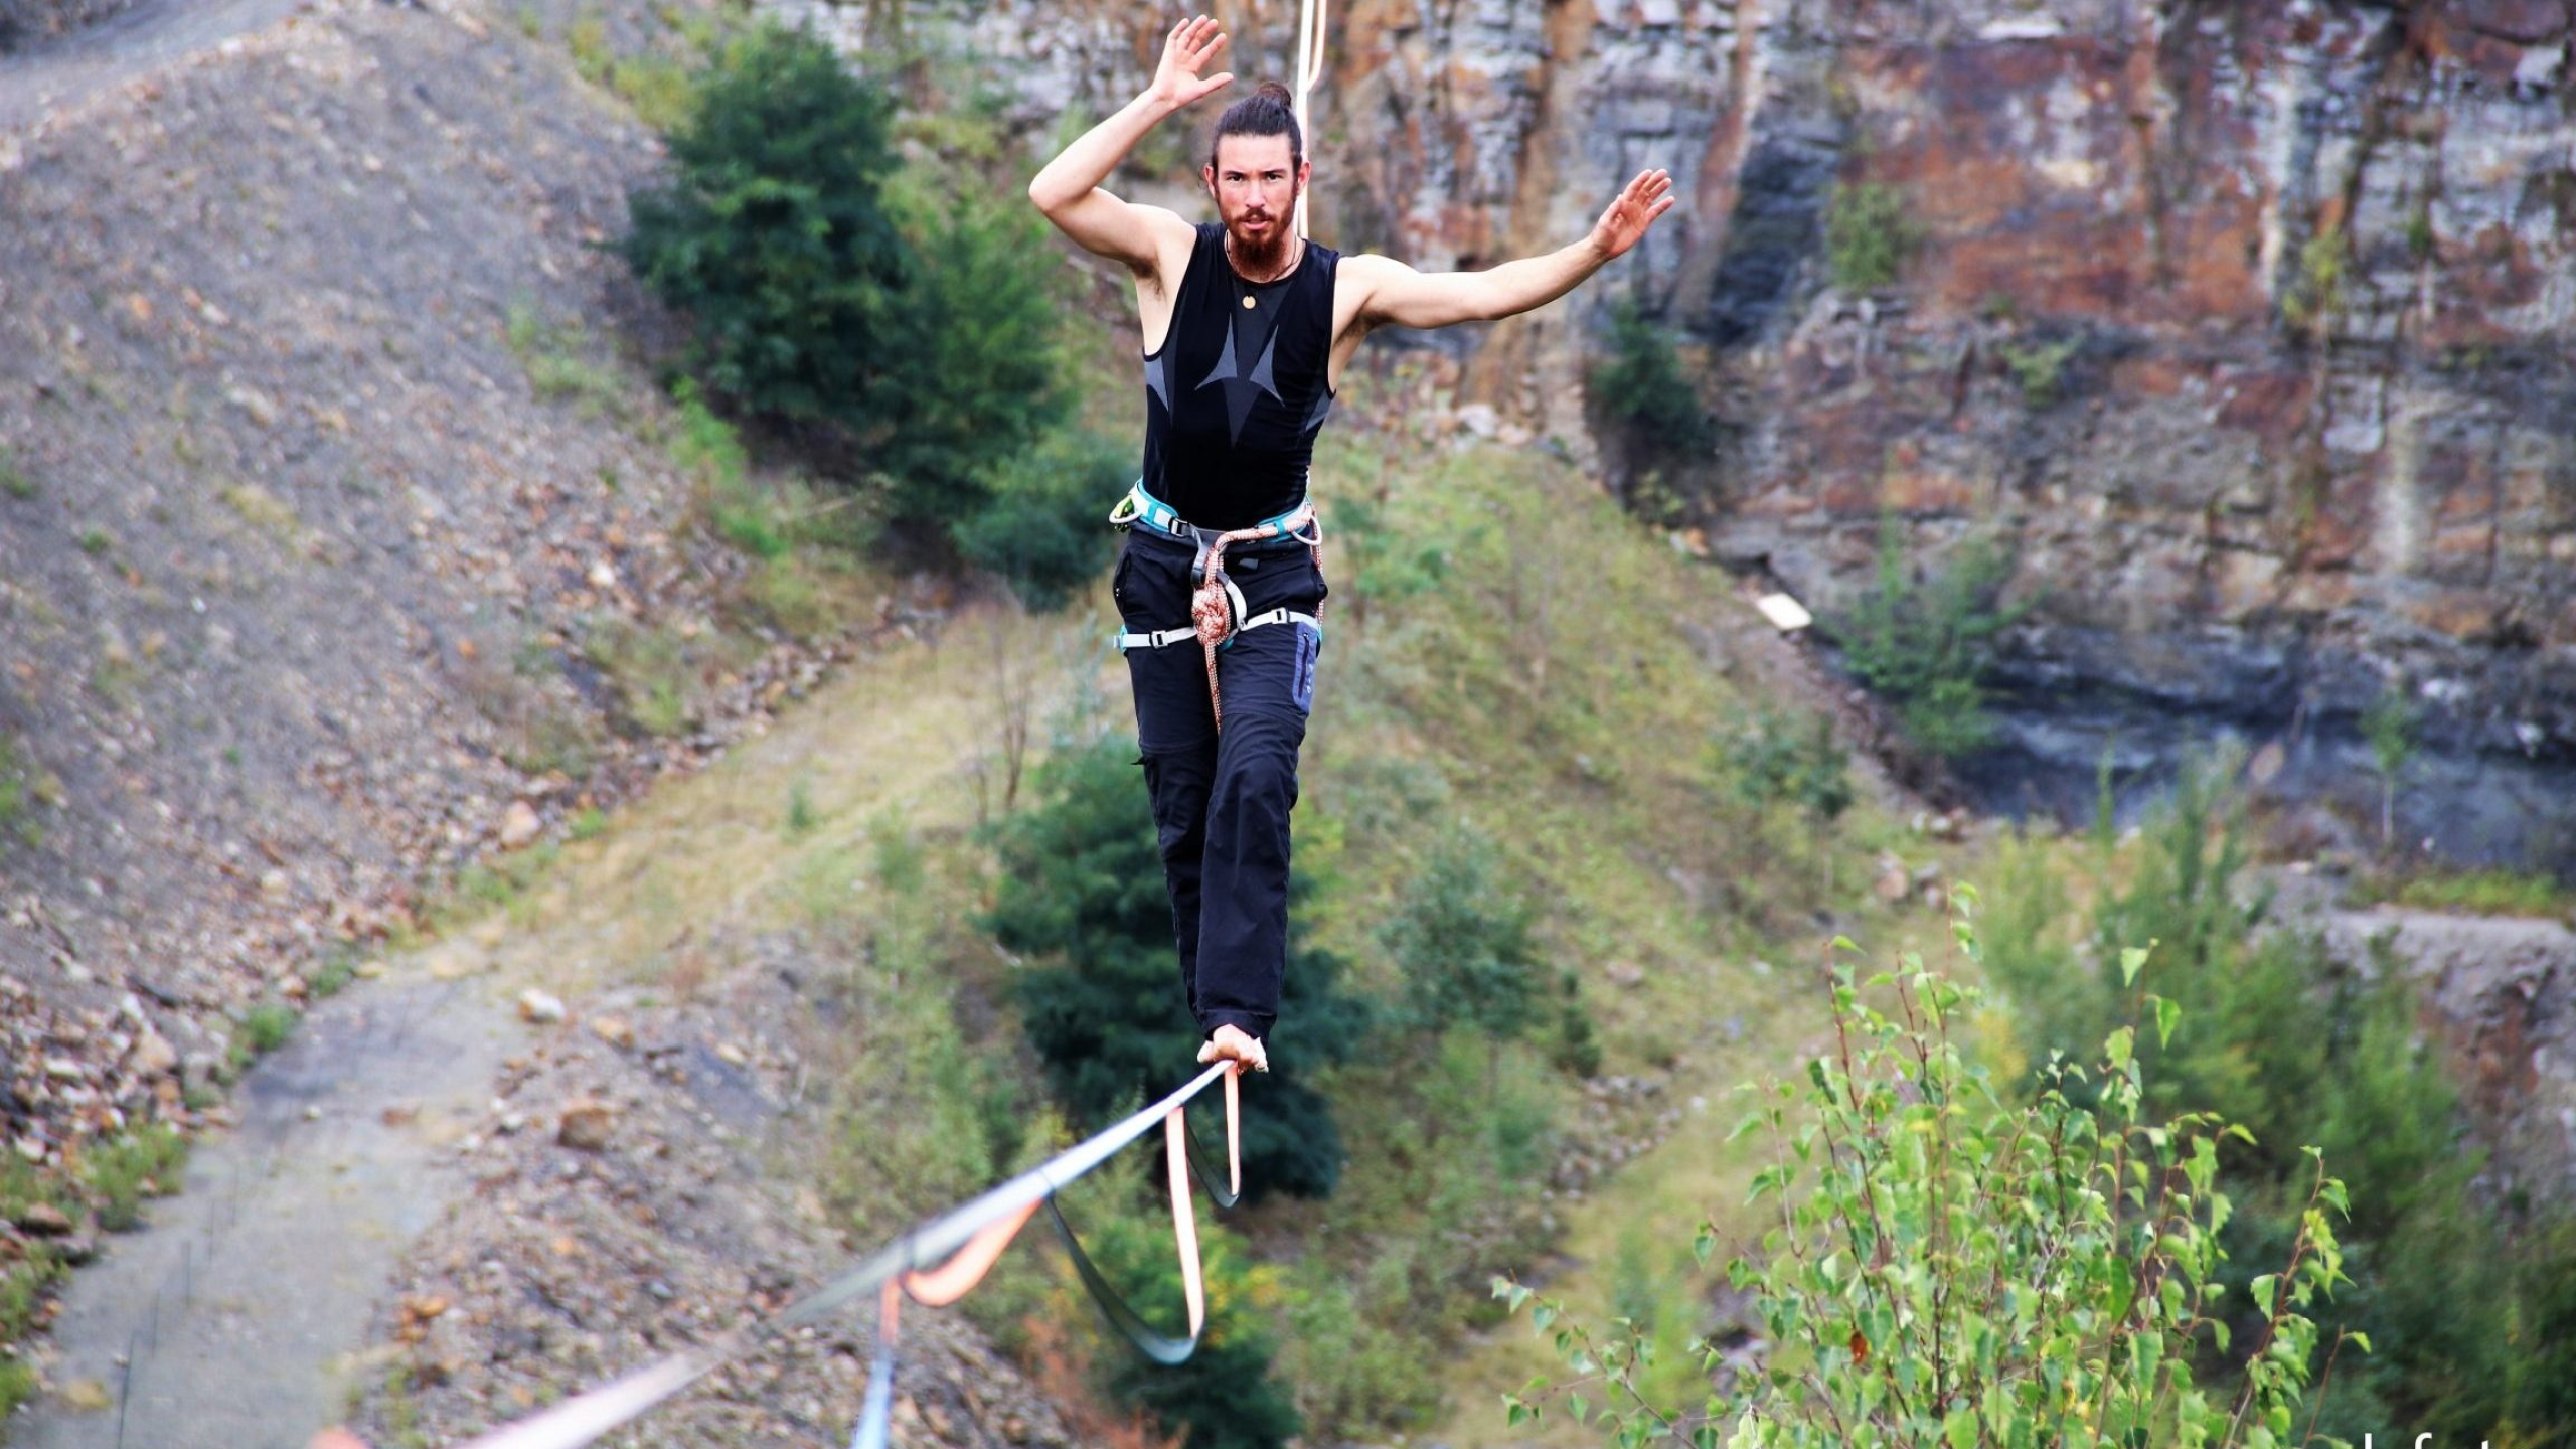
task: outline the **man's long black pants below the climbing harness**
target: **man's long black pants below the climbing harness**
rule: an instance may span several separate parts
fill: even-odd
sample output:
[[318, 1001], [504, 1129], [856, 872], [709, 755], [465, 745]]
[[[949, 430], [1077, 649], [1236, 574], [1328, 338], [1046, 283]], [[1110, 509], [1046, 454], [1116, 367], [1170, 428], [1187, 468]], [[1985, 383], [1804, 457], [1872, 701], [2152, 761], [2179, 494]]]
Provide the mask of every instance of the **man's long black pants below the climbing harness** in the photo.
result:
[[[1195, 554], [1185, 541], [1128, 531], [1113, 593], [1131, 632], [1190, 624]], [[1244, 590], [1247, 614], [1314, 614], [1329, 593], [1314, 552], [1293, 539], [1229, 547], [1226, 578]], [[1136, 743], [1172, 887], [1180, 985], [1203, 1034], [1236, 1026], [1267, 1039], [1278, 1021], [1288, 964], [1288, 812], [1321, 647], [1321, 632], [1309, 624], [1236, 632], [1216, 652], [1224, 732], [1208, 712], [1208, 665], [1195, 639], [1128, 650]]]

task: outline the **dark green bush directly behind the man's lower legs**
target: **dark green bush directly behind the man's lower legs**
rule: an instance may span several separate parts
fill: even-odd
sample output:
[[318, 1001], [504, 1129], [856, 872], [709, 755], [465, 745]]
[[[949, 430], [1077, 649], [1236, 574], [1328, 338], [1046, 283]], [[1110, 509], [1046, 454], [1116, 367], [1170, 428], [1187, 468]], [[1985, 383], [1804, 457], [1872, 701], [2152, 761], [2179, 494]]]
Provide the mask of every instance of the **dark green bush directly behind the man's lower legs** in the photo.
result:
[[[1133, 740], [1097, 740], [1046, 763], [1041, 804], [999, 833], [987, 915], [1005, 949], [1036, 957], [1012, 993], [1046, 1080], [1082, 1129], [1177, 1085], [1200, 1044], [1180, 993], [1172, 902], [1133, 761]], [[1298, 905], [1309, 890], [1306, 877], [1291, 882], [1270, 1073], [1244, 1093], [1247, 1196], [1329, 1196], [1342, 1173], [1332, 1104], [1309, 1080], [1358, 1049], [1365, 1011], [1340, 990], [1342, 962], [1306, 944]]]

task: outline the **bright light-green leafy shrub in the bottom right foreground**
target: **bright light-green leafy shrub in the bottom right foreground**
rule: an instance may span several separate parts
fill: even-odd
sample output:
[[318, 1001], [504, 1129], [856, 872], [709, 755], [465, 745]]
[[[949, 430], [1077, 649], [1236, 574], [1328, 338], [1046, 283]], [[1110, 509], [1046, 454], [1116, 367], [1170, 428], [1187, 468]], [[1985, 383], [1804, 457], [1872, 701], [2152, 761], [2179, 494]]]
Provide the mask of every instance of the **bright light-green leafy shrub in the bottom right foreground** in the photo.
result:
[[[1958, 933], [1976, 959], [1965, 915]], [[2125, 969], [2143, 957], [2128, 951]], [[2290, 1444], [2321, 1338], [2308, 1312], [2347, 1281], [2334, 1230], [2344, 1186], [2311, 1150], [2298, 1232], [2267, 1261], [2277, 1271], [2244, 1287], [2251, 1315], [2236, 1315], [2218, 1145], [2239, 1129], [2215, 1114], [2148, 1116], [2128, 1026], [2097, 1070], [2012, 1101], [1960, 1044], [1976, 1003], [1911, 954], [1870, 982], [1842, 969], [1834, 1049], [1801, 1083], [1757, 1093], [1739, 1134], [1772, 1142], [1752, 1201], [1777, 1204], [1777, 1220], [1759, 1258], [1731, 1258], [1726, 1276], [1749, 1297], [1767, 1364], [1728, 1395], [1654, 1403], [1638, 1379], [1646, 1325], [1566, 1323], [1538, 1299], [1533, 1325], [1556, 1333], [1577, 1379], [1504, 1395], [1512, 1426], [1561, 1397], [1577, 1421], [1600, 1413], [1620, 1449], [1667, 1434], [1698, 1449]], [[2169, 1031], [2161, 1000], [2146, 1006], [2151, 1031]], [[2061, 1091], [2076, 1080], [2097, 1106]], [[1705, 1263], [1716, 1245], [1705, 1222], [1692, 1250]], [[1512, 1307], [1533, 1299], [1507, 1279], [1494, 1292]], [[2244, 1361], [2233, 1395], [2195, 1372], [2202, 1346]], [[1718, 1348], [1695, 1354], [1718, 1374]]]

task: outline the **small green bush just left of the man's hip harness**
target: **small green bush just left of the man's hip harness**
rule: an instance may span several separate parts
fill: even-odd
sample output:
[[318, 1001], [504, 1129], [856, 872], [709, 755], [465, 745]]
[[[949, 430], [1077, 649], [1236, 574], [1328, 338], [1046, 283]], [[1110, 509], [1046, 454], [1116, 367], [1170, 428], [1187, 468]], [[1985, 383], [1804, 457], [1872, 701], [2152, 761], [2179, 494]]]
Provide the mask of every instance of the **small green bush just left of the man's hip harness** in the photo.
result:
[[1136, 474], [1123, 443], [1090, 431], [1048, 433], [989, 474], [989, 500], [951, 523], [958, 557], [1010, 583], [1020, 603], [1056, 608], [1100, 575], [1115, 534], [1108, 511]]

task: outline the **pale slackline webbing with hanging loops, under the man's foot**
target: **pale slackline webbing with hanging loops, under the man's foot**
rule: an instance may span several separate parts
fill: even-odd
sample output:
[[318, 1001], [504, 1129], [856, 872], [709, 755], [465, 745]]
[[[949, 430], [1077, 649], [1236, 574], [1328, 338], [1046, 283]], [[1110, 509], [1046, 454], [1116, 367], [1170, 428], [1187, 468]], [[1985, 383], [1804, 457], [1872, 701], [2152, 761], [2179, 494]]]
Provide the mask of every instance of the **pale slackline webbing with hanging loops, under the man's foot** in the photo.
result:
[[[1198, 1217], [1190, 1207], [1190, 1176], [1208, 1189], [1218, 1207], [1231, 1207], [1242, 1194], [1242, 1096], [1239, 1096], [1239, 1070], [1242, 1062], [1216, 1062], [1198, 1073], [1188, 1085], [1164, 1096], [1154, 1106], [1146, 1106], [1136, 1116], [1066, 1147], [1056, 1158], [1046, 1160], [1028, 1173], [956, 1207], [930, 1222], [922, 1222], [912, 1232], [904, 1232], [894, 1243], [886, 1243], [855, 1269], [827, 1281], [822, 1289], [806, 1294], [804, 1299], [788, 1305], [775, 1318], [765, 1323], [752, 1323], [737, 1328], [714, 1343], [698, 1348], [685, 1348], [657, 1364], [647, 1364], [616, 1382], [600, 1385], [590, 1392], [574, 1395], [544, 1413], [523, 1418], [518, 1423], [505, 1423], [479, 1439], [461, 1444], [459, 1449], [577, 1449], [634, 1421], [649, 1408], [670, 1400], [688, 1385], [703, 1379], [719, 1366], [742, 1359], [752, 1348], [783, 1338], [791, 1328], [817, 1323], [850, 1305], [876, 1297], [876, 1361], [868, 1366], [868, 1397], [858, 1410], [858, 1426], [850, 1436], [853, 1449], [886, 1449], [889, 1421], [894, 1410], [894, 1348], [902, 1318], [902, 1299], [912, 1299], [925, 1307], [945, 1307], [966, 1292], [971, 1292], [984, 1274], [992, 1271], [1002, 1248], [1018, 1238], [1020, 1227], [1043, 1207], [1056, 1230], [1064, 1235], [1064, 1245], [1072, 1250], [1074, 1274], [1092, 1292], [1100, 1305], [1103, 1318], [1118, 1333], [1123, 1333], [1139, 1351], [1159, 1364], [1180, 1364], [1198, 1348], [1198, 1338], [1208, 1320], [1208, 1294], [1198, 1263]], [[1193, 1152], [1188, 1104], [1203, 1093], [1211, 1083], [1226, 1083], [1226, 1191], [1218, 1194], [1208, 1171], [1198, 1163]], [[1146, 1325], [1118, 1292], [1100, 1276], [1100, 1269], [1082, 1250], [1074, 1238], [1072, 1225], [1064, 1222], [1064, 1212], [1056, 1209], [1056, 1194], [1074, 1178], [1090, 1173], [1100, 1163], [1110, 1160], [1113, 1152], [1144, 1137], [1162, 1122], [1162, 1150], [1164, 1150], [1164, 1178], [1172, 1189], [1172, 1235], [1180, 1250], [1180, 1281], [1182, 1297], [1190, 1305], [1190, 1333], [1188, 1338], [1157, 1333]]]

